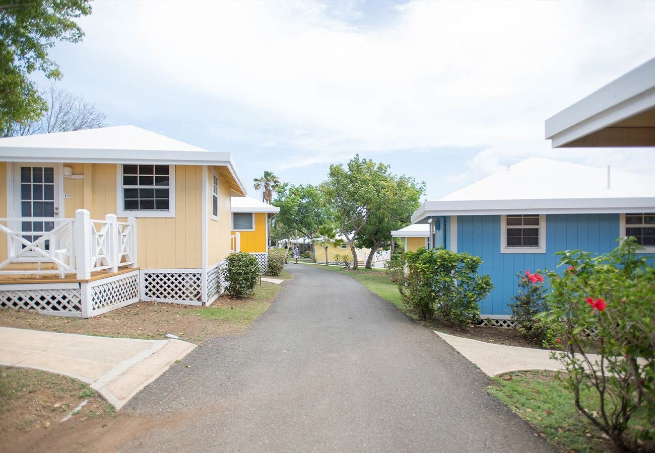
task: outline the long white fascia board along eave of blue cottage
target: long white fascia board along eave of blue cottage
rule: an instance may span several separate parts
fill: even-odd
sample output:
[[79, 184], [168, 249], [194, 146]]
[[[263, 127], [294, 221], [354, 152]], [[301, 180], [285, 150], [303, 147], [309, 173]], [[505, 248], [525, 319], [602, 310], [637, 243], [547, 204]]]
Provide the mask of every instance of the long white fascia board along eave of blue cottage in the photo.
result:
[[603, 214], [655, 211], [655, 197], [563, 198], [547, 200], [466, 200], [424, 202], [411, 217], [434, 215]]

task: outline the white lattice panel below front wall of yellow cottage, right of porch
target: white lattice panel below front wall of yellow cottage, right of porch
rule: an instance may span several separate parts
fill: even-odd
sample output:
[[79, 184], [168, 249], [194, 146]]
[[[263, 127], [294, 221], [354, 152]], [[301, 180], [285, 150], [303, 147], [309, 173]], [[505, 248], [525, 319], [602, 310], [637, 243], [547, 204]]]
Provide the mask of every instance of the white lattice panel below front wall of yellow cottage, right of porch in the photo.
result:
[[147, 299], [202, 299], [201, 272], [144, 272], [143, 285]]

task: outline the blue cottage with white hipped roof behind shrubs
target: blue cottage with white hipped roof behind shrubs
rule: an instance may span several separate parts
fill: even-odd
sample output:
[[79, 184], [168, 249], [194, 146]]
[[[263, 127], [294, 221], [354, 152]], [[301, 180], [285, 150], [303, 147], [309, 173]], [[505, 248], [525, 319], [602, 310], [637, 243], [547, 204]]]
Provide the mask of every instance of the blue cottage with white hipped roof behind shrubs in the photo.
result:
[[481, 316], [508, 325], [517, 272], [555, 269], [557, 251], [605, 253], [635, 236], [655, 254], [655, 177], [532, 157], [424, 202], [411, 220], [430, 225], [432, 246], [483, 259], [495, 289]]

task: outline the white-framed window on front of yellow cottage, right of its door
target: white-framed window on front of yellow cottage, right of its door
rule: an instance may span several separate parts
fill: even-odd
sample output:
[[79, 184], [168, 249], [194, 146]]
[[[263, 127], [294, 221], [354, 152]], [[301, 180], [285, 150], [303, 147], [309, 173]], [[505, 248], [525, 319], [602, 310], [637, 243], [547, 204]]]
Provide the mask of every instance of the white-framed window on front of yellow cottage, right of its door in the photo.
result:
[[119, 217], [173, 217], [174, 166], [124, 164], [119, 172]]

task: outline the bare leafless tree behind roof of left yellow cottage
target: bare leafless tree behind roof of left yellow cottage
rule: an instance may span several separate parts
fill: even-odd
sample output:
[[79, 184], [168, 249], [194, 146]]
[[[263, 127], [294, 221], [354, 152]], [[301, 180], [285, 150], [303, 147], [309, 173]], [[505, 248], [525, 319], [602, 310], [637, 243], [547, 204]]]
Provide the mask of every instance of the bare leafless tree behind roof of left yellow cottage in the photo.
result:
[[12, 125], [10, 136], [30, 136], [50, 132], [94, 129], [105, 126], [105, 114], [82, 96], [66, 92], [53, 81], [43, 93], [47, 111], [39, 120], [27, 120]]

